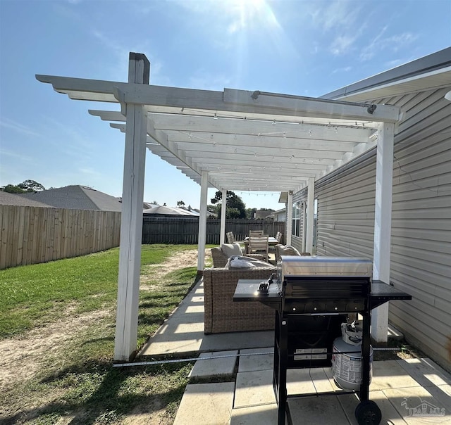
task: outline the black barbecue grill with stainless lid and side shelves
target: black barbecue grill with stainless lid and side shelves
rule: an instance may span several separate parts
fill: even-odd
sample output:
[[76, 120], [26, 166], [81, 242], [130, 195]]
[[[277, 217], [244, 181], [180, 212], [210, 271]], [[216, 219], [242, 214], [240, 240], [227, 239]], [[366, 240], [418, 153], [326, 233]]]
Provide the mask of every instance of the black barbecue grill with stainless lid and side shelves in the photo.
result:
[[[369, 400], [371, 309], [388, 300], [412, 299], [381, 281], [371, 281], [372, 262], [365, 258], [282, 256], [277, 276], [269, 285], [238, 281], [235, 301], [255, 301], [276, 310], [273, 387], [278, 402], [278, 424], [292, 424], [287, 394], [287, 370], [330, 367], [333, 341], [341, 335], [347, 315], [363, 317], [362, 384], [355, 411], [359, 424], [378, 424], [381, 411]], [[355, 391], [332, 392], [349, 394]], [[331, 393], [321, 393], [326, 395]]]

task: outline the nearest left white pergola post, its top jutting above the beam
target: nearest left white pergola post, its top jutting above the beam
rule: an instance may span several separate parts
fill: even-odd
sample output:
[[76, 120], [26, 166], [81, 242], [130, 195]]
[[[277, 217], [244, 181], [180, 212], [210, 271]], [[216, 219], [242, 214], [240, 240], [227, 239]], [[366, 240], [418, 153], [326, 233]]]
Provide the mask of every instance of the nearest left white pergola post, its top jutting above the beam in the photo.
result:
[[[130, 53], [128, 82], [149, 84], [149, 61], [144, 55]], [[127, 127], [114, 360], [127, 361], [137, 344], [147, 112], [141, 105], [122, 107], [126, 111]]]

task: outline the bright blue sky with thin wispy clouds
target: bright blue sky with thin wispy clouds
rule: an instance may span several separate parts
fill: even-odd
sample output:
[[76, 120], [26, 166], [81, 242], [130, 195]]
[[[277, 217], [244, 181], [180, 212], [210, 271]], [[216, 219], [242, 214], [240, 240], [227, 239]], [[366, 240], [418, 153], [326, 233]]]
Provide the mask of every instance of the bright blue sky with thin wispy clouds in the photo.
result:
[[[451, 0], [0, 0], [0, 186], [36, 180], [121, 196], [124, 136], [35, 74], [321, 96], [451, 45]], [[247, 208], [279, 194], [237, 192]], [[209, 191], [209, 198], [214, 190]], [[199, 207], [200, 186], [151, 153], [144, 200]]]

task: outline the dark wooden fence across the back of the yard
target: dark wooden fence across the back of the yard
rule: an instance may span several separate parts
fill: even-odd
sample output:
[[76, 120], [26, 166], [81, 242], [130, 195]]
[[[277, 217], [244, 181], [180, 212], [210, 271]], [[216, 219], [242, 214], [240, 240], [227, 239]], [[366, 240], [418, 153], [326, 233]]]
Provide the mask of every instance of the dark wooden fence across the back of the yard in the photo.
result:
[[[226, 220], [226, 231], [233, 231], [237, 240], [245, 239], [249, 230], [263, 229], [264, 234], [284, 233], [285, 222], [264, 220]], [[219, 244], [221, 220], [206, 220], [206, 243]], [[156, 217], [144, 215], [142, 219], [142, 243], [197, 243], [199, 236], [199, 217]]]

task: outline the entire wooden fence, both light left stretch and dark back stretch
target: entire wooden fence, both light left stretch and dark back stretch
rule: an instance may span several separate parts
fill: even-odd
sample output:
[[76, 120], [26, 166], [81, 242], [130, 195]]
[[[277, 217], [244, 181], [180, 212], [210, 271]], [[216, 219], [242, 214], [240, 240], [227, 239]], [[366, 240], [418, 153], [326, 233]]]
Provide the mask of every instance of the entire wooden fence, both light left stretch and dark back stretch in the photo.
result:
[[[94, 253], [119, 246], [121, 213], [0, 205], [0, 269]], [[206, 220], [206, 243], [219, 244], [219, 219]], [[274, 236], [285, 222], [227, 220], [238, 240], [249, 230]], [[144, 215], [142, 243], [197, 244], [199, 217]]]

